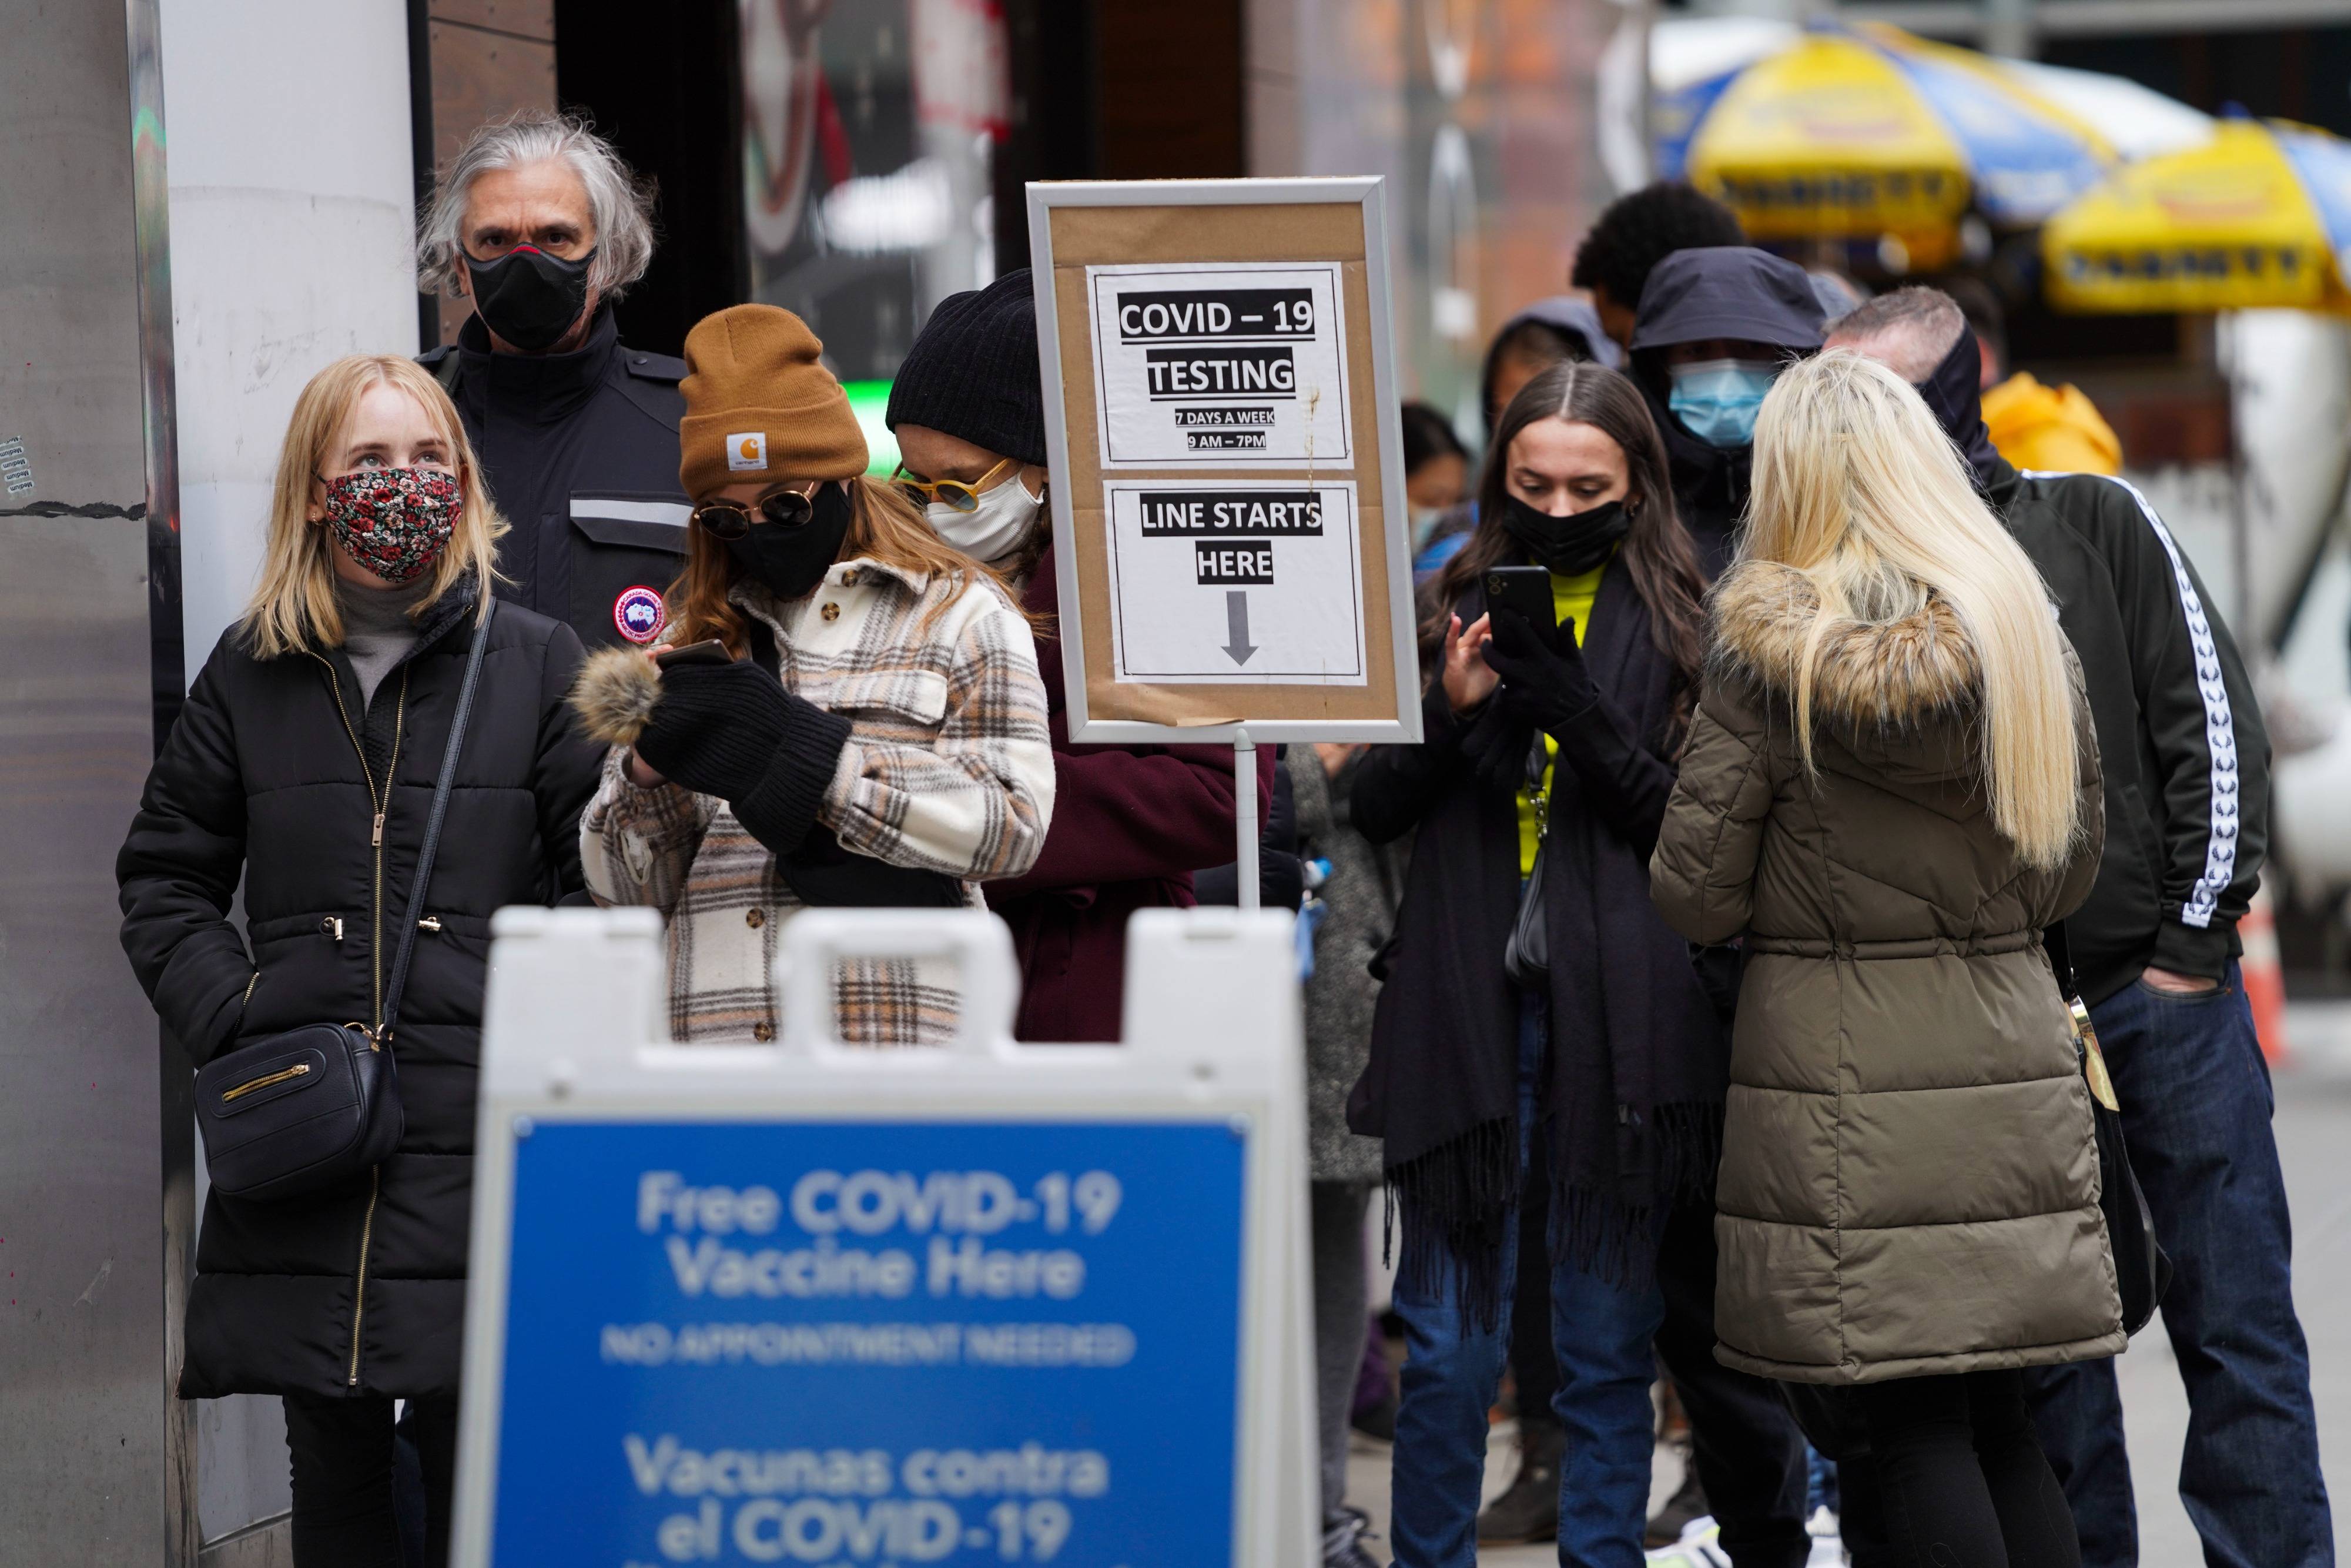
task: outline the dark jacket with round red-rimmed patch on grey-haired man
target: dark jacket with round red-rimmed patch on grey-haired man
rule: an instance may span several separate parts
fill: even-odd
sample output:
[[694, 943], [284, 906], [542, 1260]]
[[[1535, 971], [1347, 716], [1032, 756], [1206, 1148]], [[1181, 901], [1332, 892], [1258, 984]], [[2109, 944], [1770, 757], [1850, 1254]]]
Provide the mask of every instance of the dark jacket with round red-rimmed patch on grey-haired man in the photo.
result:
[[[590, 649], [647, 644], [686, 557], [677, 421], [686, 362], [621, 343], [611, 306], [562, 355], [501, 355], [482, 317], [423, 357], [482, 458], [498, 541], [498, 597], [564, 621]], [[654, 597], [647, 597], [654, 595]], [[623, 630], [623, 611], [632, 616]]]

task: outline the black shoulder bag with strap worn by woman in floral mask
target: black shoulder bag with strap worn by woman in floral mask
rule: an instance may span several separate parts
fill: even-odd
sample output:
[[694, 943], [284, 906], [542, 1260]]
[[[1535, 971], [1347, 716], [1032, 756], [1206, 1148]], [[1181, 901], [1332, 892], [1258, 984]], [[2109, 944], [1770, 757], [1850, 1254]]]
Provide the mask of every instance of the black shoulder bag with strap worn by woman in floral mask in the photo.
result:
[[[496, 602], [491, 602], [496, 614]], [[400, 947], [383, 990], [383, 1018], [364, 1023], [313, 1023], [256, 1039], [205, 1063], [195, 1074], [195, 1126], [205, 1135], [205, 1168], [212, 1185], [235, 1199], [289, 1199], [331, 1187], [367, 1171], [400, 1147], [400, 1070], [393, 1063], [393, 1027], [400, 992], [416, 957], [416, 919], [433, 882], [456, 759], [465, 748], [473, 689], [489, 646], [482, 616], [465, 654], [465, 684], [449, 719], [449, 748], [433, 785], [433, 813], [416, 856], [416, 882], [400, 917]]]

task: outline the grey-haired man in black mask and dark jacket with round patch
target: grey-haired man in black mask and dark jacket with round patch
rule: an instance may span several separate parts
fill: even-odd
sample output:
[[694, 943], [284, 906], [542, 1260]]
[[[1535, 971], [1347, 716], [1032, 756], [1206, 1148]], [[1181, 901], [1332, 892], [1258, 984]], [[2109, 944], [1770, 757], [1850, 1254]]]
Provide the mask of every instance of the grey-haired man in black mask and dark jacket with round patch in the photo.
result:
[[513, 524], [501, 588], [592, 646], [668, 623], [684, 559], [682, 360], [621, 343], [611, 306], [654, 259], [651, 190], [567, 115], [484, 125], [442, 172], [416, 275], [475, 313], [423, 357]]

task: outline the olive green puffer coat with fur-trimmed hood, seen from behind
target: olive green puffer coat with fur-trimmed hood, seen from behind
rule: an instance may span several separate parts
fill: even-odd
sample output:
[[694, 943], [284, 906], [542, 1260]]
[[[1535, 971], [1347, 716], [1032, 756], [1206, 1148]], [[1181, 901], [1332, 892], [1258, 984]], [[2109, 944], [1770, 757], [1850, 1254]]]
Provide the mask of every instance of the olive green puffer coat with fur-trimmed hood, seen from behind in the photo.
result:
[[1829, 630], [1806, 773], [1787, 672], [1815, 604], [1770, 562], [1723, 578], [1650, 865], [1683, 936], [1747, 938], [1714, 1354], [1789, 1382], [2111, 1356], [2090, 1095], [2041, 950], [2104, 837], [2081, 668], [2067, 654], [2085, 835], [2031, 870], [1987, 816], [1980, 670], [1942, 602]]

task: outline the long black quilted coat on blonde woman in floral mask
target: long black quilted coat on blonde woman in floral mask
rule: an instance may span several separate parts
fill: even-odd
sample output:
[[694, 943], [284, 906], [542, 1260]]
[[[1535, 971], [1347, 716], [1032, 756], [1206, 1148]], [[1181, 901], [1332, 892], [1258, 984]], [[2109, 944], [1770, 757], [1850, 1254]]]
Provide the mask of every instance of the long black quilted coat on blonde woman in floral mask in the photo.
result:
[[[230, 630], [212, 651], [115, 860], [122, 947], [193, 1063], [376, 1018], [468, 609], [430, 614], [364, 712], [341, 649], [263, 661]], [[181, 1396], [456, 1389], [489, 917], [581, 889], [578, 813], [604, 752], [571, 733], [578, 663], [569, 628], [498, 609], [433, 867], [426, 914], [440, 929], [416, 938], [395, 1037], [400, 1152], [336, 1192], [207, 1199]]]

